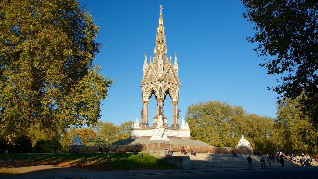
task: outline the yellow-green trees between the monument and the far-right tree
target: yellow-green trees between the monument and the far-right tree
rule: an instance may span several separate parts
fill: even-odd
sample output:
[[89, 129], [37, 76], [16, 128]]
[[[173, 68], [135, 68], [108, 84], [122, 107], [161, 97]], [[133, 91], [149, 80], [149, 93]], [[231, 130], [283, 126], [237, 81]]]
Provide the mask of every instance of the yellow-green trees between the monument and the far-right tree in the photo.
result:
[[272, 153], [273, 120], [267, 116], [247, 114], [242, 106], [209, 100], [188, 106], [185, 118], [194, 140], [216, 147], [236, 147], [244, 134], [254, 152]]

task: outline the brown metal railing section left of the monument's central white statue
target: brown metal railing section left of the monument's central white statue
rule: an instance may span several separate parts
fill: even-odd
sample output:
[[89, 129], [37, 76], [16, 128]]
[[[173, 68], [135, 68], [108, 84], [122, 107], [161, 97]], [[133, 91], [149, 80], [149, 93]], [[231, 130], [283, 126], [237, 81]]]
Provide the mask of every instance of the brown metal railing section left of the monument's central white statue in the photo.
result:
[[87, 146], [87, 147], [78, 147], [79, 152], [100, 152], [100, 148], [103, 148], [103, 151], [108, 150], [109, 152], [142, 152], [146, 151], [146, 145], [135, 144], [135, 145], [109, 145], [109, 146]]

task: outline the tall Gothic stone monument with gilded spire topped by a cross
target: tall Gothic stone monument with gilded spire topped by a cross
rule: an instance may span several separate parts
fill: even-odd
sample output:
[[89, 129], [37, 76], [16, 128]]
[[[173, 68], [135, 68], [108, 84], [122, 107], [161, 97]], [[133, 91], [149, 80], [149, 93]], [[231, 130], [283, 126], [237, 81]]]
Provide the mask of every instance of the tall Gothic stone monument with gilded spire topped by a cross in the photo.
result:
[[[150, 143], [158, 143], [152, 145], [153, 148], [162, 148], [168, 146], [169, 139], [187, 139], [191, 140], [190, 128], [188, 123], [182, 119], [182, 125], [179, 125], [179, 87], [180, 81], [178, 77], [177, 54], [175, 53], [174, 62], [172, 57], [167, 56], [166, 34], [164, 33], [162, 6], [160, 5], [159, 25], [156, 34], [156, 46], [154, 48], [153, 58], [149, 57], [147, 61], [147, 53], [143, 63], [143, 78], [141, 81], [141, 97], [143, 108], [141, 109], [141, 122], [138, 119], [132, 124], [130, 131], [130, 139], [149, 138]], [[154, 95], [157, 101], [156, 109], [148, 109], [149, 99]], [[172, 109], [164, 109], [164, 102], [167, 95], [171, 98]], [[149, 126], [149, 110], [156, 110], [156, 116], [153, 118], [152, 126]], [[164, 115], [165, 110], [172, 110], [172, 118]], [[169, 119], [172, 124], [169, 127]], [[161, 142], [158, 142], [161, 141]], [[161, 145], [161, 144], [167, 145]], [[151, 148], [151, 145], [149, 145]], [[156, 146], [156, 147], [155, 147]]]

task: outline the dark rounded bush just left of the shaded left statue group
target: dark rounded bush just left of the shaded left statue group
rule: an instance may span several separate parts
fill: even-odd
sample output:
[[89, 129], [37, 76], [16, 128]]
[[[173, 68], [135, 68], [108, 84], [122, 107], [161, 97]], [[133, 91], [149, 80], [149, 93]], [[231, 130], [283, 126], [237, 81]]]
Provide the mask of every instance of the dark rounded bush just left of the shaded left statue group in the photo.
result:
[[51, 140], [38, 140], [32, 149], [33, 153], [56, 153], [62, 148], [59, 141]]

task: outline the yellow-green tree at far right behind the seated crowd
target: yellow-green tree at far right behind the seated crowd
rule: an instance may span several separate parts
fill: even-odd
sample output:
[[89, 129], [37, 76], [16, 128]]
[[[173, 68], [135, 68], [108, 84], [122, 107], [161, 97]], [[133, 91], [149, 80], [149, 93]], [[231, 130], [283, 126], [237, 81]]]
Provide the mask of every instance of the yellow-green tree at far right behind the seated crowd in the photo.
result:
[[309, 117], [296, 107], [298, 103], [301, 103], [301, 97], [286, 99], [277, 105], [275, 141], [285, 153], [318, 154], [318, 130], [311, 125]]

